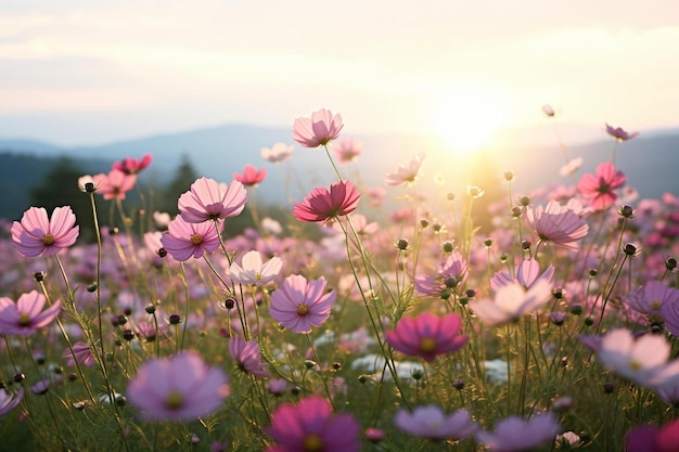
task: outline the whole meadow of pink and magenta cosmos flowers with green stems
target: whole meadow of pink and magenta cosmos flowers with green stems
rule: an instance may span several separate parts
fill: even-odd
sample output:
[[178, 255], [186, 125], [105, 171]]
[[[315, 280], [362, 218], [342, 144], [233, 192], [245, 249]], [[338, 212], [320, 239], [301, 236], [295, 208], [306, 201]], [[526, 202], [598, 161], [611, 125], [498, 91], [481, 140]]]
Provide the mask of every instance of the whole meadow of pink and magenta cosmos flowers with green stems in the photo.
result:
[[74, 180], [88, 218], [5, 221], [0, 450], [677, 450], [679, 198], [628, 185], [635, 133], [607, 126], [610, 160], [566, 158], [531, 193], [508, 171], [484, 203], [420, 193], [425, 154], [362, 186], [342, 129], [320, 109], [294, 155], [262, 150], [336, 175], [281, 221], [257, 209], [261, 162], [198, 178], [177, 215], [128, 207], [151, 155]]

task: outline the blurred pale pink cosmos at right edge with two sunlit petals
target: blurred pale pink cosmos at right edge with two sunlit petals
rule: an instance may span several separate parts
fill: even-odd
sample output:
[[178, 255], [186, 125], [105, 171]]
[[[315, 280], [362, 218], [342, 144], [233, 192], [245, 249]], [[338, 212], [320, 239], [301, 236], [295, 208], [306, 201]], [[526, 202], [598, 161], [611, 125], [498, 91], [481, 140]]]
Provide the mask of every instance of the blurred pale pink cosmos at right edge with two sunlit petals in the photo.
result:
[[679, 378], [679, 361], [668, 362], [670, 346], [664, 336], [636, 338], [629, 330], [606, 333], [597, 350], [605, 366], [641, 386], [666, 385]]

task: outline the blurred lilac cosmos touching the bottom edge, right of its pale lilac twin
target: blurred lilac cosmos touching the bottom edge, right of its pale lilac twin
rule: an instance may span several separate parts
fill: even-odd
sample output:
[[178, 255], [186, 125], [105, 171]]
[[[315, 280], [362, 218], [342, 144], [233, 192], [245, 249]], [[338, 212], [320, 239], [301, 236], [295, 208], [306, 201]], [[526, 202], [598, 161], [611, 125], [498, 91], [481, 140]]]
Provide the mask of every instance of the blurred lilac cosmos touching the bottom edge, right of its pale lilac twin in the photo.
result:
[[537, 448], [547, 441], [553, 441], [560, 430], [559, 422], [550, 412], [524, 421], [509, 416], [496, 425], [495, 432], [479, 430], [476, 441], [494, 452], [517, 452]]

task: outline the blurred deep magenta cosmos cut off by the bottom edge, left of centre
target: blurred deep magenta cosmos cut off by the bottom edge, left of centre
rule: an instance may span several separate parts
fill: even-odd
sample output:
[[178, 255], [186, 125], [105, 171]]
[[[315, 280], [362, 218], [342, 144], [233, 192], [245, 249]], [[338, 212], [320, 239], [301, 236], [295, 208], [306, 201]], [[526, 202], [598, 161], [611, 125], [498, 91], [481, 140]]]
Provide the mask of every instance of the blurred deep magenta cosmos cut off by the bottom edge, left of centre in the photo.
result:
[[359, 423], [350, 414], [333, 414], [330, 403], [309, 396], [297, 405], [283, 403], [271, 416], [268, 432], [277, 445], [268, 452], [358, 452]]

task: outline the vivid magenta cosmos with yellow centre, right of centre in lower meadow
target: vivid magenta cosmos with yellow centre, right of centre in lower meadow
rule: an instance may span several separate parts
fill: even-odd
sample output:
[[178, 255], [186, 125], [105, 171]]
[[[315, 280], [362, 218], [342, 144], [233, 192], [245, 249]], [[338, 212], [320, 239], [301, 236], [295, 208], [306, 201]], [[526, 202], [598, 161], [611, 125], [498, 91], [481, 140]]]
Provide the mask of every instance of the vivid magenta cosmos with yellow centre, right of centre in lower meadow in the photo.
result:
[[464, 347], [469, 337], [460, 335], [462, 319], [456, 313], [443, 318], [423, 312], [417, 318], [402, 318], [395, 330], [386, 332], [386, 340], [396, 350], [410, 357], [434, 361], [437, 354]]

